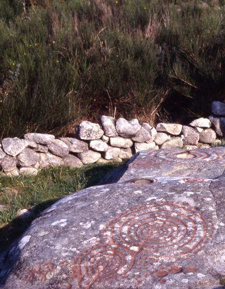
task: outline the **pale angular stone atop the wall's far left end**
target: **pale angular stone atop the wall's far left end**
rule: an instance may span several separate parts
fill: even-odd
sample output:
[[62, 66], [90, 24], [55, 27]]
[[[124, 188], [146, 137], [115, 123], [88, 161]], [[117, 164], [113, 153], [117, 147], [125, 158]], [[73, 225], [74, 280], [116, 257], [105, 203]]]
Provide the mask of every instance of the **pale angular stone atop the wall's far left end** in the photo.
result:
[[28, 142], [25, 139], [19, 139], [18, 137], [6, 137], [2, 139], [1, 145], [5, 153], [15, 156], [28, 146]]

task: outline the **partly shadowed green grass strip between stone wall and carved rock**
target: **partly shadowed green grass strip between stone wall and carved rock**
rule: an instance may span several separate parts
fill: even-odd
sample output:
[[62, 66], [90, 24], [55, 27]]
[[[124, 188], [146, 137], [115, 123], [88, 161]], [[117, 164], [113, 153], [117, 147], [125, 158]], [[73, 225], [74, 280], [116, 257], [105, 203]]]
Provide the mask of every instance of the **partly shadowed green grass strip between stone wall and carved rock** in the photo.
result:
[[[81, 168], [48, 166], [36, 176], [0, 176], [0, 205], [7, 207], [0, 209], [0, 252], [45, 208], [70, 193], [95, 185], [117, 165], [92, 164]], [[31, 213], [25, 220], [16, 215], [24, 208]]]

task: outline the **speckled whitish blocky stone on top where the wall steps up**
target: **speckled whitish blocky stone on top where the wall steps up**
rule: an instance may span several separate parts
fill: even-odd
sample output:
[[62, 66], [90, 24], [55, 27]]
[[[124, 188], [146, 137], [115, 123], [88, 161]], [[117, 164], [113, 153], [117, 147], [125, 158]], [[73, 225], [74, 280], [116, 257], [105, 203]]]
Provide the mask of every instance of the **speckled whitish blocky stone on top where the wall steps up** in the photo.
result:
[[82, 121], [76, 126], [77, 136], [80, 139], [98, 139], [104, 134], [100, 125], [90, 121]]

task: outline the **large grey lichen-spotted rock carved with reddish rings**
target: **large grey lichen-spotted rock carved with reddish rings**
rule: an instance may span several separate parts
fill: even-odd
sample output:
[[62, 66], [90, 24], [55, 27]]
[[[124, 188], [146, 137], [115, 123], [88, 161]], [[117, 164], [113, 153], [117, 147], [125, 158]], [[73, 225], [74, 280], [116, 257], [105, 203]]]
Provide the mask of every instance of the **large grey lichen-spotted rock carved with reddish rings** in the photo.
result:
[[[218, 177], [213, 177], [214, 171], [209, 177], [208, 170], [198, 176], [149, 175], [148, 168], [144, 174], [131, 161], [121, 182], [90, 187], [59, 200], [10, 247], [1, 265], [0, 288], [223, 288], [225, 160], [221, 151], [197, 150], [192, 157], [199, 158], [200, 164], [208, 159], [204, 169], [214, 163], [221, 172]], [[138, 157], [154, 153], [137, 155], [135, 166]], [[156, 158], [163, 162], [161, 155], [168, 155], [165, 161], [175, 158], [176, 162], [178, 154], [183, 161], [183, 153], [186, 150], [164, 154], [159, 150]]]

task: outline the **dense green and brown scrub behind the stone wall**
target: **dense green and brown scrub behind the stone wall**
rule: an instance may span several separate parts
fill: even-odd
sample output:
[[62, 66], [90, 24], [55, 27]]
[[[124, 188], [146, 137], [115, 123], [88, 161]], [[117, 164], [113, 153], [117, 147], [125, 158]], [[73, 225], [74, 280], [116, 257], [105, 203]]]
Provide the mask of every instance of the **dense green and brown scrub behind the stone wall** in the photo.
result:
[[1, 0], [0, 138], [185, 124], [225, 92], [224, 0]]

